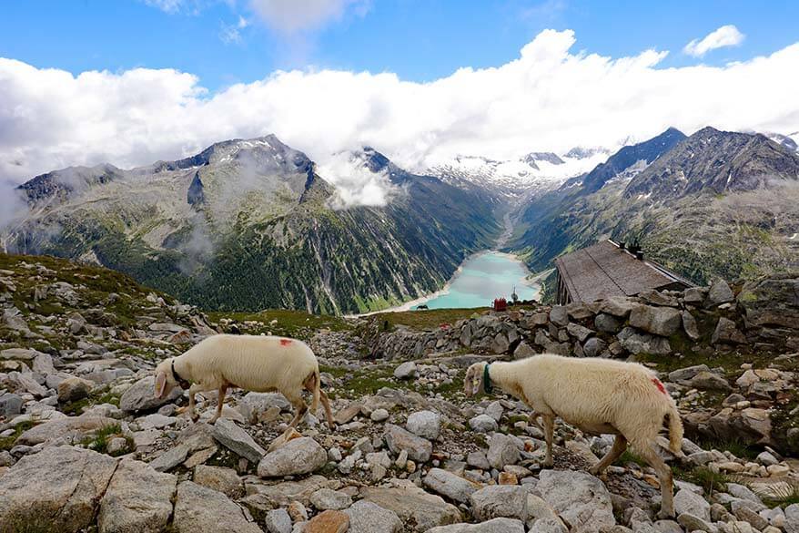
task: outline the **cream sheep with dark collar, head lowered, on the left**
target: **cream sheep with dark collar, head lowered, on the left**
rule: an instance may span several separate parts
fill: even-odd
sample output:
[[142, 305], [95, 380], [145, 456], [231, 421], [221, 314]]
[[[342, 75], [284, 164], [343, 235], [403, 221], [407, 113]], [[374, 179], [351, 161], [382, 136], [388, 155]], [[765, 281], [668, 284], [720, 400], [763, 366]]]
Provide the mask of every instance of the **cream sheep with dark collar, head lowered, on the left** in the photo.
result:
[[303, 390], [313, 395], [311, 412], [319, 399], [325, 407], [328, 425], [333, 428], [328, 395], [319, 388], [319, 362], [308, 344], [296, 339], [262, 335], [212, 335], [185, 354], [165, 359], [156, 367], [156, 397], [163, 398], [176, 385], [188, 389], [188, 413], [195, 422], [194, 396], [217, 390], [217, 413], [229, 387], [258, 393], [278, 392], [297, 410], [291, 427], [296, 427], [308, 410], [302, 400]]

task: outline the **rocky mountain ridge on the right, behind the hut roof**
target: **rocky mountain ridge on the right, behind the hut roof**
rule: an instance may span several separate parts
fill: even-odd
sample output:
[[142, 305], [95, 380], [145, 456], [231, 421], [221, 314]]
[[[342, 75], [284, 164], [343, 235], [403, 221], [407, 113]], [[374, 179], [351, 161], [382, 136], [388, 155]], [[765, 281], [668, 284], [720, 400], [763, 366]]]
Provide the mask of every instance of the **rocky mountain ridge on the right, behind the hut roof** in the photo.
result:
[[[799, 206], [792, 201], [799, 194], [799, 157], [793, 150], [761, 134], [710, 127], [672, 146], [652, 142], [658, 138], [641, 143], [660, 148], [648, 165], [631, 165], [611, 178], [606, 169], [612, 165], [601, 165], [592, 171], [599, 181], [586, 186], [586, 177], [571, 179], [533, 200], [509, 247], [524, 252], [533, 271], [606, 238], [639, 242], [647, 255], [694, 282], [799, 268], [799, 242], [792, 240], [799, 229]], [[625, 150], [627, 156], [641, 153], [641, 145], [609, 161]], [[627, 156], [621, 159], [635, 159]]]

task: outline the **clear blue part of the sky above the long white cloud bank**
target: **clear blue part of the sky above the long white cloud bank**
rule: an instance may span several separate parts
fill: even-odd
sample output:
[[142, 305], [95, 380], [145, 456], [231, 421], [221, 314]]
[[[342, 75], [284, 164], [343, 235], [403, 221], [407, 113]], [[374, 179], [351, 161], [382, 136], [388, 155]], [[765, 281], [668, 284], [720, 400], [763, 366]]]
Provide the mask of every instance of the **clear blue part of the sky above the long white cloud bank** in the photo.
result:
[[[372, 0], [287, 34], [264, 21], [250, 0], [27, 0], [4, 5], [0, 56], [73, 74], [176, 68], [197, 75], [212, 91], [263, 79], [278, 68], [308, 66], [430, 81], [458, 67], [507, 63], [544, 28], [574, 30], [572, 51], [618, 57], [669, 50], [661, 67], [681, 67], [769, 54], [799, 39], [797, 19], [797, 2], [764, 8], [729, 0]], [[239, 28], [240, 20], [247, 26]], [[743, 32], [740, 46], [712, 50], [702, 59], [683, 53], [686, 43], [724, 25]], [[239, 40], [226, 42], [226, 28]]]

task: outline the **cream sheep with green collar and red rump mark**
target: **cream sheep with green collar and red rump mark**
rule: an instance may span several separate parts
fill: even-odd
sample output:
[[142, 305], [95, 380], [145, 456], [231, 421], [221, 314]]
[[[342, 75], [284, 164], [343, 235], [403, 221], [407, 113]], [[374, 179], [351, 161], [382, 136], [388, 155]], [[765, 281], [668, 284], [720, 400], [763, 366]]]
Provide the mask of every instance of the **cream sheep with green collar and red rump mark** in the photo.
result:
[[641, 364], [608, 359], [541, 354], [509, 363], [476, 363], [466, 372], [466, 395], [491, 393], [493, 385], [529, 405], [541, 418], [547, 443], [544, 466], [552, 466], [555, 417], [591, 434], [616, 436], [612, 449], [591, 468], [602, 475], [628, 443], [657, 472], [662, 517], [674, 516], [671, 468], [656, 451], [664, 422], [669, 450], [682, 456], [683, 422], [677, 405], [657, 376]]

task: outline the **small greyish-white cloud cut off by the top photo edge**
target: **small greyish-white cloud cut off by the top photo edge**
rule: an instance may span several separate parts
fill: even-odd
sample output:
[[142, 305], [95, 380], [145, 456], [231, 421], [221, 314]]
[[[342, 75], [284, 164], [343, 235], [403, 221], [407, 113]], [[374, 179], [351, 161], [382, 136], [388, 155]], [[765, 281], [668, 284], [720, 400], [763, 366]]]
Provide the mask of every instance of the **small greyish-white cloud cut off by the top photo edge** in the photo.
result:
[[317, 30], [339, 20], [351, 10], [356, 15], [369, 11], [369, 0], [250, 0], [252, 10], [269, 27], [281, 34]]

